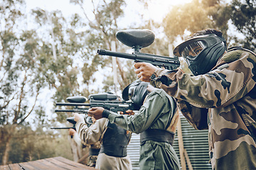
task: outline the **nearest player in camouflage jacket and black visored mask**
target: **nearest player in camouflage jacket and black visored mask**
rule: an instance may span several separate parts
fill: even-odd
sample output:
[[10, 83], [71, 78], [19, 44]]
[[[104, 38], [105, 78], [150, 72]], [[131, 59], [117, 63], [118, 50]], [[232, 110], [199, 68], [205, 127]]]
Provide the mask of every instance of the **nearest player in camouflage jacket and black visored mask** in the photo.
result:
[[206, 29], [178, 45], [174, 55], [184, 57], [193, 74], [138, 62], [137, 77], [176, 98], [194, 128], [208, 128], [213, 169], [256, 169], [255, 53], [227, 50], [222, 33]]

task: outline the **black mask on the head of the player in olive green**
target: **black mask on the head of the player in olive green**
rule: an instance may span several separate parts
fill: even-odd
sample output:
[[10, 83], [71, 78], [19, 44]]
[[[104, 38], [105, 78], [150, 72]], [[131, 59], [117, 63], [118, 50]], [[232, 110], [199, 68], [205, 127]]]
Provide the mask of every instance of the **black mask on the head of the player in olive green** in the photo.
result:
[[146, 90], [147, 86], [149, 86], [149, 83], [136, 80], [126, 86], [122, 91], [122, 98], [125, 101], [132, 100], [134, 102], [134, 111], [139, 111], [146, 95], [149, 94], [149, 91]]

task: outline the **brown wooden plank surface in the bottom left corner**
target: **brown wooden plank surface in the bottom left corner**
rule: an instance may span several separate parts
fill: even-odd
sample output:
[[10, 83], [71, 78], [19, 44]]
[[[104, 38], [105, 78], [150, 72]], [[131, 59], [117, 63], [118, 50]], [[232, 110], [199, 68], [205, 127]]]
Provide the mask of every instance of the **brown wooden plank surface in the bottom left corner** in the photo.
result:
[[78, 162], [70, 161], [63, 157], [53, 157], [47, 159], [39, 159], [32, 162], [22, 162], [17, 164], [1, 165], [0, 170], [41, 170], [41, 169], [56, 169], [56, 170], [96, 170], [95, 168], [85, 166]]

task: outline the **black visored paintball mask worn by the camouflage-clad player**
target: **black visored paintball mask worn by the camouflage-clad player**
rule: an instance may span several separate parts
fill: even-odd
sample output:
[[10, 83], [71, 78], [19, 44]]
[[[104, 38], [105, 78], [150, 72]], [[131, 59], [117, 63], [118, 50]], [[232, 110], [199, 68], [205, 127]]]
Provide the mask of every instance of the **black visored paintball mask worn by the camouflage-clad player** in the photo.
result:
[[184, 57], [188, 68], [197, 76], [210, 72], [226, 50], [225, 38], [208, 34], [182, 42], [174, 49], [174, 55]]

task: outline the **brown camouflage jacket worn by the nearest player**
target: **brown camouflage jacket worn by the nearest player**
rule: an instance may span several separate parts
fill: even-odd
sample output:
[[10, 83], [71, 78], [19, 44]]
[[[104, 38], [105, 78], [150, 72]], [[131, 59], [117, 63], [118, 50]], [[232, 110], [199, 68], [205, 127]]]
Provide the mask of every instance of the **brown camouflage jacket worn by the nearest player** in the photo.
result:
[[255, 62], [252, 52], [233, 50], [207, 74], [157, 69], [151, 76], [152, 85], [178, 100], [194, 128], [208, 128], [213, 169], [256, 169]]

